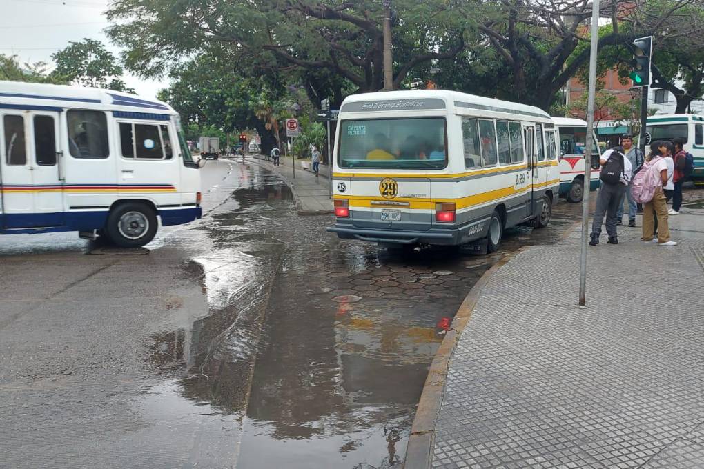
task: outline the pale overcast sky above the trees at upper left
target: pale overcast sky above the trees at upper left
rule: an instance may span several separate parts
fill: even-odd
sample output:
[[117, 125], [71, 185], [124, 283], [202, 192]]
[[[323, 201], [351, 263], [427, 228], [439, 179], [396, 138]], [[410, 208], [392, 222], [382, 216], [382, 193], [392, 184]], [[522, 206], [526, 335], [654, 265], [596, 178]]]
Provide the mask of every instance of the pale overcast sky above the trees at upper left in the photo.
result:
[[[120, 48], [103, 32], [108, 20], [103, 12], [109, 0], [0, 0], [0, 53], [17, 55], [20, 63], [51, 63], [51, 54], [69, 41], [98, 39], [115, 56]], [[154, 98], [168, 86], [163, 79], [145, 80], [125, 75], [127, 86], [138, 95]]]

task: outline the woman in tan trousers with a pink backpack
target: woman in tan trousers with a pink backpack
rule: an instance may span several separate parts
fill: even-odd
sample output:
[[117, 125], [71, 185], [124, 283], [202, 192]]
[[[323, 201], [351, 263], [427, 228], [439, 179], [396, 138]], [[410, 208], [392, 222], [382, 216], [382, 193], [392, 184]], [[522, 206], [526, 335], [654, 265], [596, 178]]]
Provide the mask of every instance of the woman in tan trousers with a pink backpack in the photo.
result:
[[[670, 143], [670, 142], [667, 142]], [[672, 144], [670, 143], [670, 146]], [[660, 246], [677, 246], [670, 240], [670, 226], [667, 224], [667, 202], [662, 187], [667, 184], [667, 163], [660, 155], [666, 143], [655, 142], [653, 151], [633, 178], [631, 188], [633, 198], [643, 205], [643, 243], [658, 243]], [[655, 150], [657, 148], [658, 150]], [[655, 217], [658, 219], [658, 238], [655, 239]]]

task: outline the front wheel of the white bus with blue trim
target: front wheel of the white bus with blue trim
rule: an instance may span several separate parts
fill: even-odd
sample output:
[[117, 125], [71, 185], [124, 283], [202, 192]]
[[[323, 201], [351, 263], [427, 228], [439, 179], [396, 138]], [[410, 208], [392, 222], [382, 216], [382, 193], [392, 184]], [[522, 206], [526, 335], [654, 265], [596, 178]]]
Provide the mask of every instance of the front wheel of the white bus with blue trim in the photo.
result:
[[120, 248], [141, 248], [153, 240], [157, 228], [156, 214], [149, 205], [127, 202], [110, 210], [105, 233]]

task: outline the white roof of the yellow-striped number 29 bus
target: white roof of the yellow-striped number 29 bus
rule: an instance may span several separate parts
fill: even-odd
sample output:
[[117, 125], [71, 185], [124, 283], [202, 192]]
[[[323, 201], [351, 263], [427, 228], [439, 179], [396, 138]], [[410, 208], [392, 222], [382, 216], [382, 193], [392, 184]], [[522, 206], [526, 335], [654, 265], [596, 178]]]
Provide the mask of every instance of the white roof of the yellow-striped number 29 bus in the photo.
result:
[[[533, 115], [535, 117], [543, 117], [550, 119], [550, 115], [541, 108], [535, 106], [512, 103], [511, 101], [501, 101], [500, 99], [485, 98], [484, 96], [476, 96], [473, 94], [460, 93], [458, 91], [449, 91], [444, 89], [423, 89], [423, 90], [407, 90], [407, 91], [380, 91], [379, 93], [363, 93], [347, 96], [342, 103], [340, 113], [353, 113], [367, 110], [360, 108], [359, 105], [353, 103], [371, 103], [379, 101], [398, 101], [406, 103], [406, 105], [386, 108], [372, 108], [368, 110], [413, 110], [413, 109], [428, 109], [423, 107], [422, 103], [427, 103], [428, 100], [441, 99], [445, 103], [455, 105], [458, 108], [476, 108], [482, 110], [491, 110], [502, 113], [517, 113], [524, 115]], [[417, 105], [413, 105], [413, 103]]]

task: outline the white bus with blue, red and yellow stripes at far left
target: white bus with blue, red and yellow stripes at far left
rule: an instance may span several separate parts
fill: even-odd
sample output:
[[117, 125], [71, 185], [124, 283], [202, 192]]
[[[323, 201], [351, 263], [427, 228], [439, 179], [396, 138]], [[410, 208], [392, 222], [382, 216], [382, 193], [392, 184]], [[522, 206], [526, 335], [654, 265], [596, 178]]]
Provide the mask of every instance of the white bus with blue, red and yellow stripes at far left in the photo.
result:
[[0, 82], [0, 234], [78, 231], [123, 247], [201, 217], [199, 166], [167, 104]]

